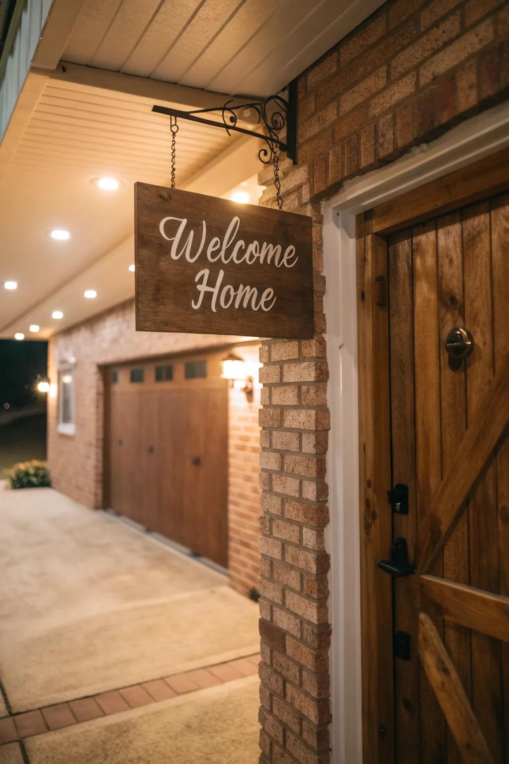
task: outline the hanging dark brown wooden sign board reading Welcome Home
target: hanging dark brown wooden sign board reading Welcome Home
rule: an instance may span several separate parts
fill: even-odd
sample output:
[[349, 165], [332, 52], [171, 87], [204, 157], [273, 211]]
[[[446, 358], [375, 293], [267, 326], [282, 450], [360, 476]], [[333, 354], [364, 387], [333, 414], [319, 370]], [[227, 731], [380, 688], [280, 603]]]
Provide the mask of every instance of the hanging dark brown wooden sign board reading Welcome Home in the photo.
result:
[[312, 337], [311, 218], [134, 186], [136, 328]]

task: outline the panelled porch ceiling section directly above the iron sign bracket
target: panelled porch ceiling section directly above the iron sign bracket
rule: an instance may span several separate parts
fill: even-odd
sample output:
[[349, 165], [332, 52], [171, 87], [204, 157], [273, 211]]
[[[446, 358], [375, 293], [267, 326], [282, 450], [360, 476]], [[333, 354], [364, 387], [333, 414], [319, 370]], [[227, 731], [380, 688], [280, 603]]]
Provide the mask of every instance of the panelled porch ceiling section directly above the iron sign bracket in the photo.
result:
[[62, 59], [233, 95], [272, 95], [382, 0], [85, 0]]

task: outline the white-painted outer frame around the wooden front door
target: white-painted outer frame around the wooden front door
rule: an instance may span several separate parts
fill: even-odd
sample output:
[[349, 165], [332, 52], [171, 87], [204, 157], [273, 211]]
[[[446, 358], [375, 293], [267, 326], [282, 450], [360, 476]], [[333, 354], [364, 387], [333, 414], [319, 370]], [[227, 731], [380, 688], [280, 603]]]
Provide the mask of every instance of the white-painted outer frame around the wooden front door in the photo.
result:
[[344, 184], [324, 202], [330, 434], [330, 675], [332, 764], [362, 762], [356, 215], [509, 145], [509, 103]]

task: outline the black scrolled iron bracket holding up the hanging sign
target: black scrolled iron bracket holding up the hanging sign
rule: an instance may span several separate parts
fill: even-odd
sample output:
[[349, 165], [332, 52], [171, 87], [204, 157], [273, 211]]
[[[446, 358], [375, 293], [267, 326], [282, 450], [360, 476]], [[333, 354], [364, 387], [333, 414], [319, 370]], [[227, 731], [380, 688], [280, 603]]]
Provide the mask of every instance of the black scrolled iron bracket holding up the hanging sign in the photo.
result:
[[[157, 114], [166, 114], [170, 117], [187, 119], [198, 122], [201, 125], [210, 125], [214, 128], [221, 128], [230, 135], [232, 131], [251, 135], [253, 138], [259, 138], [265, 142], [259, 152], [258, 157], [264, 164], [273, 161], [275, 150], [285, 151], [288, 159], [296, 164], [296, 126], [297, 126], [297, 92], [296, 83], [290, 83], [288, 86], [288, 101], [281, 95], [269, 95], [264, 101], [251, 101], [249, 103], [235, 103], [235, 99], [230, 99], [222, 107], [200, 108], [192, 112], [182, 112], [176, 108], [154, 105], [152, 111]], [[256, 119], [250, 115], [249, 122], [255, 125], [263, 125], [266, 133], [259, 133], [237, 125], [239, 121], [238, 113], [246, 109], [254, 112]], [[202, 114], [220, 113], [223, 123], [201, 117]], [[247, 120], [246, 120], [247, 121]], [[282, 141], [280, 135], [285, 132], [285, 141]]]

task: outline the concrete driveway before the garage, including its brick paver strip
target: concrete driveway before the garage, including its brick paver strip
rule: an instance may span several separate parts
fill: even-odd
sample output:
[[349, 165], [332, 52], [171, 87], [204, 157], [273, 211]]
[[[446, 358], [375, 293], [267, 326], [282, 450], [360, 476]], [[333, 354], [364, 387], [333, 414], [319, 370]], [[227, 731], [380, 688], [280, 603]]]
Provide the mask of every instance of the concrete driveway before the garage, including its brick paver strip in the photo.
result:
[[[31, 764], [256, 762], [256, 604], [50, 488], [2, 486], [0, 523], [0, 764], [20, 745]], [[193, 708], [208, 733], [190, 732]], [[247, 736], [221, 721], [235, 708]]]

